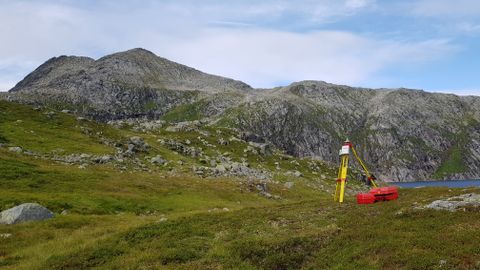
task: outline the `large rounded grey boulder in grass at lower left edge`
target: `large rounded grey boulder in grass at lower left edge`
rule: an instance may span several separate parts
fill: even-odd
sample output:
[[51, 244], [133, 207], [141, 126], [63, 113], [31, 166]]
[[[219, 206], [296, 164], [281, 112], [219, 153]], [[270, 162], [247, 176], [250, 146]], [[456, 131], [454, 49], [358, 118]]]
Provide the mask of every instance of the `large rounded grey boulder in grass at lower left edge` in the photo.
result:
[[16, 224], [53, 218], [53, 213], [37, 203], [24, 203], [0, 213], [0, 224]]

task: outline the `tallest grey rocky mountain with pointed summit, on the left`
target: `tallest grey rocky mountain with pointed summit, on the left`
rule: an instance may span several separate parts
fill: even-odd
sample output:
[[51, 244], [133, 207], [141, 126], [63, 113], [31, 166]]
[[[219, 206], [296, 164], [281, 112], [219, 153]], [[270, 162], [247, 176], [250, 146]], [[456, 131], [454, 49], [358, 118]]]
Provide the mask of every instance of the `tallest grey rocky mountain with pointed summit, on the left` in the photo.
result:
[[251, 90], [245, 83], [209, 75], [133, 49], [93, 60], [55, 57], [19, 82], [12, 99], [67, 107], [99, 120], [155, 117], [175, 105], [218, 92]]

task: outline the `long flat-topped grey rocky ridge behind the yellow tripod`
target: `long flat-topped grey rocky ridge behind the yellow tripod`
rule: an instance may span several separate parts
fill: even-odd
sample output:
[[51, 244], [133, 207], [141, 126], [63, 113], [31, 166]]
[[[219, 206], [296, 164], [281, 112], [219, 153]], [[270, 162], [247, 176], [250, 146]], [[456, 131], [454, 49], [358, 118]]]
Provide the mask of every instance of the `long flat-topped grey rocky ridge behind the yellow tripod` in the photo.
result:
[[381, 177], [393, 181], [480, 178], [479, 102], [304, 81], [272, 90], [225, 117], [290, 154], [331, 162], [349, 138]]

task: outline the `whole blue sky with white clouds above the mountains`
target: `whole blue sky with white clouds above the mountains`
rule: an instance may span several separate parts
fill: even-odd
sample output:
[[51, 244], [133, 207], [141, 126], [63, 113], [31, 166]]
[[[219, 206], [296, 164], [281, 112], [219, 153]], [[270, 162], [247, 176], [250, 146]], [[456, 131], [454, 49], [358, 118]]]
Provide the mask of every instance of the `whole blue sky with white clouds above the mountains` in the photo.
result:
[[138, 47], [256, 88], [480, 95], [478, 0], [0, 0], [0, 91], [54, 56]]

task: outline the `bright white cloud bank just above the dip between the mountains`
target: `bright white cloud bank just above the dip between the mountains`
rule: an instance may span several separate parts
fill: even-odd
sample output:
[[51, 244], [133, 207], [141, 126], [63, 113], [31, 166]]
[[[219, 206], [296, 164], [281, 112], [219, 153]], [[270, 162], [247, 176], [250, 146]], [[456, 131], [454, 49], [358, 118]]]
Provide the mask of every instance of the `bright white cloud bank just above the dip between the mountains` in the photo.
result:
[[456, 49], [446, 40], [408, 43], [339, 31], [299, 34], [257, 29], [209, 29], [194, 39], [173, 43], [154, 49], [256, 87], [306, 79], [362, 84], [390, 65], [430, 61]]

